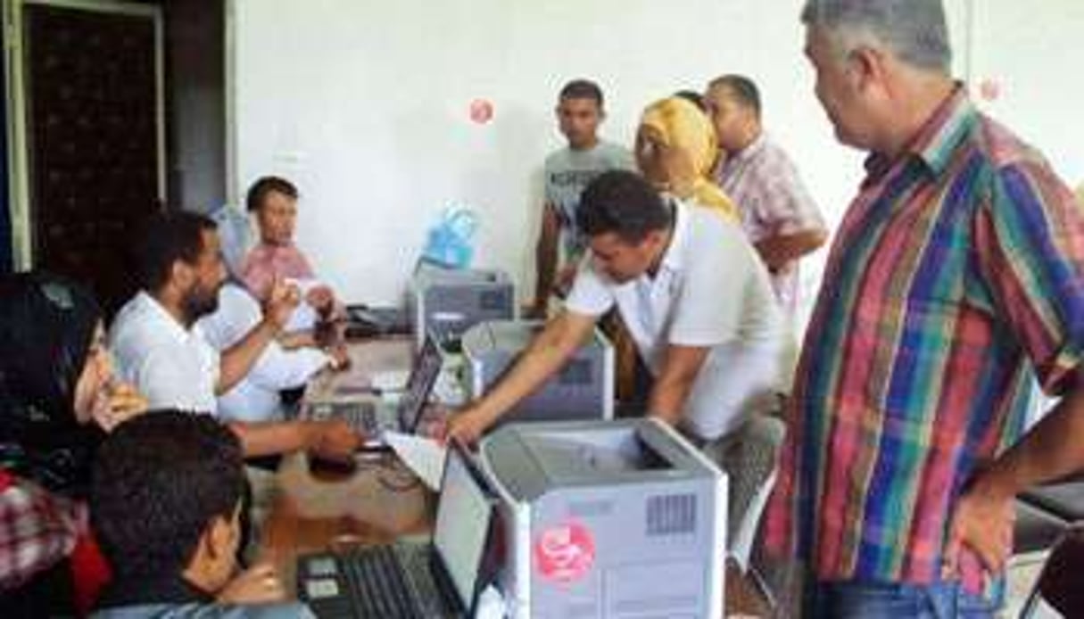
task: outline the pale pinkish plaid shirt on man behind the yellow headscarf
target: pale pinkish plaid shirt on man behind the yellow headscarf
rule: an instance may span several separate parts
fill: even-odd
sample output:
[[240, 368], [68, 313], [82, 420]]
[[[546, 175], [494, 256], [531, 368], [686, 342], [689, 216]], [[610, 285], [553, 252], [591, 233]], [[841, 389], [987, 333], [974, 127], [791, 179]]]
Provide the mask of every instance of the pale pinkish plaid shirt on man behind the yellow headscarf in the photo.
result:
[[[752, 243], [825, 229], [824, 217], [802, 184], [798, 168], [765, 133], [724, 159], [715, 181], [738, 205], [741, 227]], [[793, 313], [798, 307], [797, 260], [772, 273], [772, 287], [783, 307]]]

